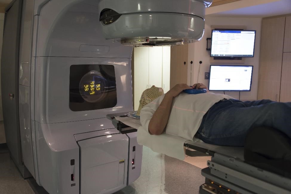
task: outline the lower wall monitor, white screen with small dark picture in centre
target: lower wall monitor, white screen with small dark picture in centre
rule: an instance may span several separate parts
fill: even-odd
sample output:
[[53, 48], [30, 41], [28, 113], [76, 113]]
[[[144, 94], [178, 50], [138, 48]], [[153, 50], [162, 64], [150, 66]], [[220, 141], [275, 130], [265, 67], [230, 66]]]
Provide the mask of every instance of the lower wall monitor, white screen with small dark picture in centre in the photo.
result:
[[209, 91], [250, 91], [253, 66], [210, 65]]

